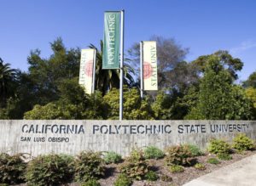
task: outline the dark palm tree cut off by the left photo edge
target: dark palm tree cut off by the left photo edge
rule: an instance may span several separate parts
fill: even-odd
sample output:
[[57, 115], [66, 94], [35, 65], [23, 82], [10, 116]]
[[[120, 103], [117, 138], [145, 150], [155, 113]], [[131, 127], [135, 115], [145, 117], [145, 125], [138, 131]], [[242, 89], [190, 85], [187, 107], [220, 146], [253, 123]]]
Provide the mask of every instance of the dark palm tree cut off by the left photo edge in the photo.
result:
[[11, 69], [10, 64], [3, 64], [3, 59], [0, 58], [0, 107], [6, 104], [6, 100], [13, 92], [13, 82], [15, 82], [17, 70]]

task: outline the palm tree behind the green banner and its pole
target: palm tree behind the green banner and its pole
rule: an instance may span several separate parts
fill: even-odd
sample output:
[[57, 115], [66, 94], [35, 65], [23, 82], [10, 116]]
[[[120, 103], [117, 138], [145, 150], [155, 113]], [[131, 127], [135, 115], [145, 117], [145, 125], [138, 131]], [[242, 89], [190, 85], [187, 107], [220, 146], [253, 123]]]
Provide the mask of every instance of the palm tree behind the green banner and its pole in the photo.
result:
[[[101, 50], [95, 45], [90, 44], [89, 48], [96, 49], [96, 89], [100, 90], [103, 95], [108, 93], [113, 87], [119, 88], [119, 69], [102, 70], [102, 51], [103, 42], [101, 40]], [[132, 86], [134, 84], [134, 69], [127, 64], [130, 59], [125, 59], [124, 63], [124, 84]]]

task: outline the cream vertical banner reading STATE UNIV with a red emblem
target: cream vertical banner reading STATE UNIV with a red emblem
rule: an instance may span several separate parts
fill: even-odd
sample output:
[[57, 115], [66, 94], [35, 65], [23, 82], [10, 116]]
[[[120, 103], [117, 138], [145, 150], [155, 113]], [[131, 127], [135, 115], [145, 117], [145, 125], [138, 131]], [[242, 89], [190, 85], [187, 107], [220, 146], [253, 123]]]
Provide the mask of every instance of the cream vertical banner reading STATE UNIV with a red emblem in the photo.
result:
[[158, 90], [156, 42], [143, 42], [143, 90]]

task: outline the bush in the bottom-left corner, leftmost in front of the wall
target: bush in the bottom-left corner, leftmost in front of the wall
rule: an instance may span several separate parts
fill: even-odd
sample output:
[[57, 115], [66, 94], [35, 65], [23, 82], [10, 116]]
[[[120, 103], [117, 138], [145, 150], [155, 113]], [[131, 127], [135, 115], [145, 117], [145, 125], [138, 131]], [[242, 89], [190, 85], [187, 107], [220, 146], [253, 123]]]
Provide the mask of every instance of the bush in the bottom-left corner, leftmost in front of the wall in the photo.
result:
[[26, 163], [22, 155], [0, 154], [0, 183], [18, 184], [25, 181]]

